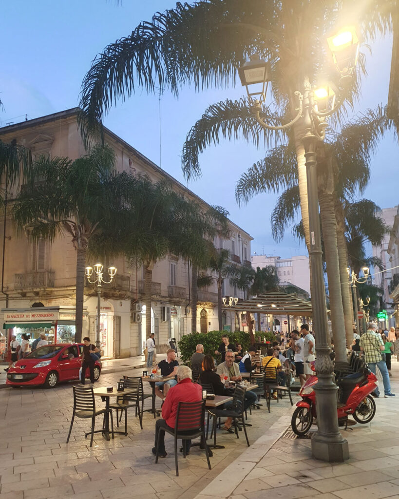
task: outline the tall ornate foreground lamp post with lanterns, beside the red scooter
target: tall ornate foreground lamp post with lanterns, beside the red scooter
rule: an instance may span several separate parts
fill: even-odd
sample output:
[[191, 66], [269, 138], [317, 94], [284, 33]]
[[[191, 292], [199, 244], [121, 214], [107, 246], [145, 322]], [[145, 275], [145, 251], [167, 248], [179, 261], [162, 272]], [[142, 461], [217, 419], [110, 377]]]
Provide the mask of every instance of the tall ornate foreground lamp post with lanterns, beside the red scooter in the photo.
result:
[[[345, 27], [329, 37], [327, 42], [333, 54], [334, 64], [341, 74], [340, 86], [348, 89], [359, 52], [359, 39], [355, 29]], [[309, 54], [309, 57], [312, 57], [312, 54]], [[270, 65], [257, 57], [256, 60], [246, 62], [238, 72], [259, 124], [267, 130], [283, 130], [293, 126], [305, 149], [310, 230], [309, 257], [312, 268], [312, 308], [318, 376], [318, 383], [314, 387], [318, 430], [312, 437], [312, 454], [322, 461], [342, 462], [349, 458], [349, 448], [348, 442], [338, 429], [337, 385], [332, 378], [333, 363], [330, 358], [331, 341], [327, 322], [317, 194], [316, 144], [324, 140], [326, 118], [338, 109], [346, 92], [335, 105], [335, 94], [331, 85], [317, 88], [305, 76], [302, 88], [296, 90], [292, 96], [297, 105], [296, 116], [285, 125], [273, 126], [266, 123], [262, 117], [267, 85], [272, 81]], [[253, 84], [257, 85], [258, 91], [252, 90], [254, 86], [248, 88]]]

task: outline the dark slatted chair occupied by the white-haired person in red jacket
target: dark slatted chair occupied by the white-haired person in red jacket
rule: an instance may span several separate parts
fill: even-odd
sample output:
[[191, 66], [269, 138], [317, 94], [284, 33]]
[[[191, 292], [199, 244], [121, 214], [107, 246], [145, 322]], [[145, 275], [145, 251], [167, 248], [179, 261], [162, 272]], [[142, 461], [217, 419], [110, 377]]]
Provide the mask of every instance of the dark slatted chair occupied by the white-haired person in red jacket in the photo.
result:
[[[201, 437], [201, 443], [203, 445], [206, 461], [208, 463], [208, 468], [210, 468], [208, 446], [205, 440], [205, 429], [204, 429], [204, 417], [205, 417], [205, 400], [199, 402], [179, 402], [178, 411], [176, 414], [175, 428], [160, 428], [160, 432], [166, 432], [173, 435], [175, 441], [175, 465], [176, 465], [176, 476], [179, 476], [179, 466], [178, 466], [178, 440], [193, 440], [197, 437]], [[159, 439], [157, 444], [157, 453], [155, 457], [155, 463], [158, 463], [159, 455]], [[183, 457], [186, 459], [186, 446], [183, 445]]]

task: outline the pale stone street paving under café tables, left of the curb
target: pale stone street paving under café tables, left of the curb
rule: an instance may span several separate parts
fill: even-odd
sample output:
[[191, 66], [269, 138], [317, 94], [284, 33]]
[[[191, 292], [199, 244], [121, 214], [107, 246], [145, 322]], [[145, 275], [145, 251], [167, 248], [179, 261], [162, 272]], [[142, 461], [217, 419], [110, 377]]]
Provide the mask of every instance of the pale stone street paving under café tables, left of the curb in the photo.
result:
[[[141, 371], [131, 368], [123, 374], [137, 376]], [[120, 377], [120, 373], [103, 372], [98, 385], [115, 386]], [[149, 392], [150, 387], [146, 385], [145, 390]], [[98, 398], [98, 403], [102, 405], [100, 400]], [[212, 470], [207, 469], [203, 451], [195, 447], [185, 460], [179, 456], [180, 476], [176, 477], [171, 437], [166, 436], [169, 455], [155, 465], [151, 454], [155, 429], [152, 414], [145, 413], [141, 430], [134, 410], [130, 409], [128, 436], [118, 435], [107, 442], [96, 434], [90, 448], [90, 440], [84, 438], [90, 423], [85, 420], [75, 420], [69, 444], [65, 443], [72, 403], [72, 383], [63, 383], [54, 389], [23, 387], [0, 390], [1, 499], [57, 496], [74, 499], [192, 499], [248, 449], [242, 432], [239, 439], [218, 432], [217, 443], [224, 445], [225, 449], [213, 451]], [[160, 403], [157, 399], [158, 408]], [[150, 406], [151, 399], [147, 399], [145, 408]], [[261, 409], [252, 411], [252, 416], [248, 415], [248, 422], [253, 425], [248, 428], [249, 441], [253, 444], [250, 452], [259, 452], [255, 441], [290, 407], [288, 398], [284, 398], [279, 403], [272, 401], [270, 414], [264, 404]], [[100, 425], [101, 419], [97, 418], [96, 428]], [[281, 429], [278, 431], [274, 440]]]

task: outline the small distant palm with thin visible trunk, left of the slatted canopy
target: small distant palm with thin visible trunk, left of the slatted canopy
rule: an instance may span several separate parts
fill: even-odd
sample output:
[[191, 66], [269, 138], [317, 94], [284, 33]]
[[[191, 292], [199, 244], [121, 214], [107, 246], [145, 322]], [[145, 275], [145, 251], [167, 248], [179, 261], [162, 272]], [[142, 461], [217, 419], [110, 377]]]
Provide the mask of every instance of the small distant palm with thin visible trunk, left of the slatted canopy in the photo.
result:
[[235, 266], [231, 265], [229, 260], [229, 251], [224, 248], [217, 249], [212, 247], [209, 252], [209, 259], [206, 267], [209, 273], [200, 273], [197, 278], [198, 287], [210, 286], [216, 283], [217, 286], [217, 316], [219, 322], [219, 331], [222, 330], [222, 296], [221, 288], [223, 280], [232, 277], [235, 272]]

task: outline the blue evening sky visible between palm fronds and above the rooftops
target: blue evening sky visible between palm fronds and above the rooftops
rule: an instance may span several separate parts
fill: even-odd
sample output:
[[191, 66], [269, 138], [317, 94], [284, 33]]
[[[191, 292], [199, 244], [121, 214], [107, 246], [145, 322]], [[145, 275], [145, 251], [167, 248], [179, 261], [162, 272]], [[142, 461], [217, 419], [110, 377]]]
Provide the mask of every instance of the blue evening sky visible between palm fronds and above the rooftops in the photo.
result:
[[[0, 99], [5, 111], [0, 126], [74, 107], [79, 102], [83, 77], [97, 53], [127, 36], [154, 12], [174, 7], [170, 0], [4, 0], [1, 6]], [[363, 83], [356, 112], [376, 107], [388, 99], [392, 40], [378, 40], [367, 57], [369, 76]], [[368, 53], [368, 52], [367, 52]], [[226, 98], [243, 95], [239, 84], [224, 90], [196, 93], [182, 89], [176, 99], [168, 91], [161, 98], [161, 166], [183, 184], [181, 151], [187, 132], [205, 108]], [[120, 102], [105, 125], [156, 164], [160, 165], [160, 116], [157, 95], [137, 92]], [[264, 151], [243, 141], [221, 141], [200, 156], [202, 178], [188, 187], [212, 205], [230, 212], [230, 219], [254, 238], [252, 251], [290, 257], [305, 253], [290, 229], [280, 243], [270, 231], [270, 214], [276, 196], [263, 194], [246, 206], [234, 199], [240, 174], [258, 161]], [[372, 163], [372, 177], [363, 197], [382, 208], [398, 204], [398, 144], [393, 135], [380, 144]]]

